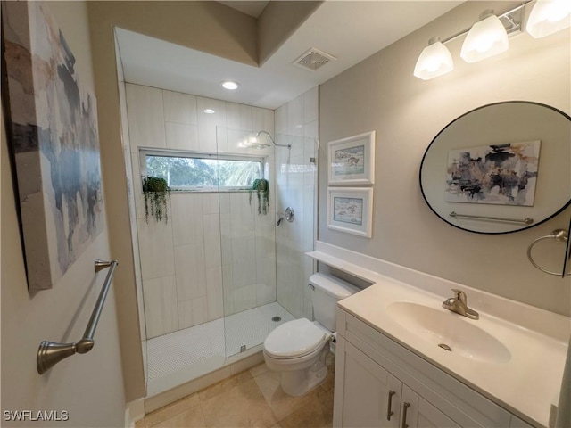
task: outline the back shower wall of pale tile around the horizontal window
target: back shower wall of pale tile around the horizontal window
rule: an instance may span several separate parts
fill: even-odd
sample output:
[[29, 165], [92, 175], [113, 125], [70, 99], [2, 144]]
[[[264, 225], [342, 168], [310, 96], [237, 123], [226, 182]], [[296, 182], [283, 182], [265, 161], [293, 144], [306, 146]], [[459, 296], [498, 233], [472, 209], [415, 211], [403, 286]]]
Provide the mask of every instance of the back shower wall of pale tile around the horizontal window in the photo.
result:
[[[248, 193], [172, 193], [168, 223], [146, 222], [137, 150], [248, 152], [224, 128], [273, 134], [274, 111], [132, 84], [126, 95], [146, 338], [275, 301], [275, 210], [258, 216]], [[273, 164], [272, 149], [249, 153]]]

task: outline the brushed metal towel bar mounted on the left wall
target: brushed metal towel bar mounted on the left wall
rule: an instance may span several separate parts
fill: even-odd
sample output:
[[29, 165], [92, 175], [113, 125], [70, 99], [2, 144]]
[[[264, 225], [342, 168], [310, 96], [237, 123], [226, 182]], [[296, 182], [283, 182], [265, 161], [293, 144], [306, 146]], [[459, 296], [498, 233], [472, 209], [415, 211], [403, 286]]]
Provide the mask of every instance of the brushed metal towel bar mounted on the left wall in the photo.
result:
[[101, 317], [103, 304], [105, 303], [107, 292], [109, 292], [109, 289], [111, 288], [113, 274], [115, 273], [115, 268], [119, 265], [119, 261], [103, 261], [95, 259], [94, 265], [95, 273], [105, 268], [109, 268], [109, 272], [107, 272], [107, 276], [105, 276], [105, 282], [103, 283], [99, 297], [95, 302], [95, 308], [91, 313], [86, 331], [83, 333], [83, 338], [79, 342], [75, 343], [41, 342], [37, 349], [37, 373], [44, 374], [50, 368], [62, 361], [62, 359], [71, 357], [76, 353], [85, 354], [94, 347], [95, 342], [93, 340], [93, 336], [95, 335], [95, 328], [97, 328], [99, 317]]

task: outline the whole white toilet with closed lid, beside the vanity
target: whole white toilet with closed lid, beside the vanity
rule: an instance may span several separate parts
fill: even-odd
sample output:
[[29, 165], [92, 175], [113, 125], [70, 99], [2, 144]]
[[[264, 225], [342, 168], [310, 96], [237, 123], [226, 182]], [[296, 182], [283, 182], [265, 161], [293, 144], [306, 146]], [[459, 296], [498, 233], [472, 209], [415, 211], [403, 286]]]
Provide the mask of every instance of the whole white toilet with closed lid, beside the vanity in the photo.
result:
[[320, 272], [310, 276], [308, 286], [315, 321], [294, 319], [279, 325], [264, 341], [266, 365], [281, 373], [282, 389], [294, 397], [325, 381], [337, 301], [360, 291], [355, 285]]

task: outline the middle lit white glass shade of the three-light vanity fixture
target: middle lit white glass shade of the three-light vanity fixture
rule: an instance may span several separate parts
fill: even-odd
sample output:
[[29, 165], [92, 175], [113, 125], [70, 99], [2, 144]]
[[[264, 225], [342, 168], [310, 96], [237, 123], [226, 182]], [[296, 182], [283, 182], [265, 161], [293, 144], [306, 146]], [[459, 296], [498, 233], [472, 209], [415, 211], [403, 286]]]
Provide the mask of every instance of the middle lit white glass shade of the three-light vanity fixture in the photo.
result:
[[478, 62], [490, 58], [509, 47], [508, 32], [491, 9], [480, 15], [480, 21], [468, 31], [462, 44], [460, 57], [465, 62]]

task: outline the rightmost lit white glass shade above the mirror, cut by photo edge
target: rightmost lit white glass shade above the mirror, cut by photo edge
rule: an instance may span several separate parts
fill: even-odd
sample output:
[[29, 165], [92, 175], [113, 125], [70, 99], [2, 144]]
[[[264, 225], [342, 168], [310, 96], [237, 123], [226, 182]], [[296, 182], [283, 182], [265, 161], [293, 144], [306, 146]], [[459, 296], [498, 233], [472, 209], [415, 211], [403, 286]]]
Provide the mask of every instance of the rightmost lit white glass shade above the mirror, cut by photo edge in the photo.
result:
[[537, 0], [525, 29], [534, 38], [550, 36], [571, 27], [569, 0]]

